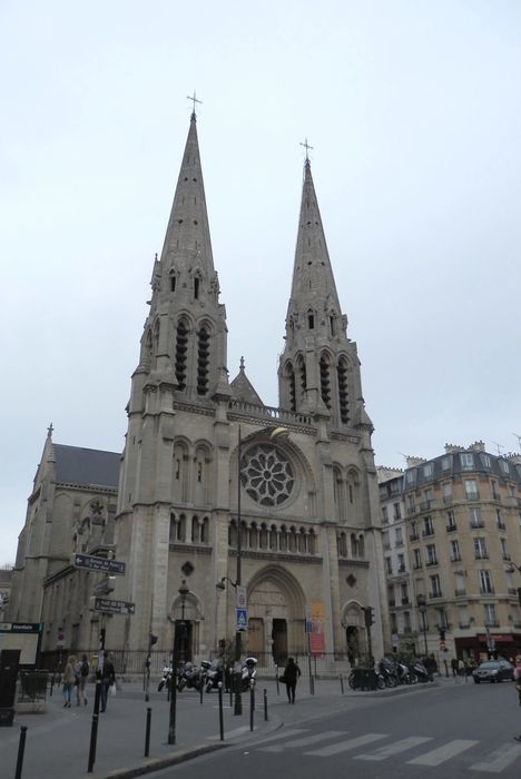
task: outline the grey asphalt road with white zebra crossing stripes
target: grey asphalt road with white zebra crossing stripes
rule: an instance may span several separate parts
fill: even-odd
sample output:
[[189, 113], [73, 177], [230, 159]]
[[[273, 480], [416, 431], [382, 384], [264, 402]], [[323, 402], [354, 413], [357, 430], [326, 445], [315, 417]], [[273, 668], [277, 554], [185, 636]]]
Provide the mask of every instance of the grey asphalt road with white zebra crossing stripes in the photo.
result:
[[156, 777], [407, 779], [521, 776], [521, 709], [510, 683], [444, 684], [425, 694], [344, 699], [342, 710], [287, 707], [284, 727]]

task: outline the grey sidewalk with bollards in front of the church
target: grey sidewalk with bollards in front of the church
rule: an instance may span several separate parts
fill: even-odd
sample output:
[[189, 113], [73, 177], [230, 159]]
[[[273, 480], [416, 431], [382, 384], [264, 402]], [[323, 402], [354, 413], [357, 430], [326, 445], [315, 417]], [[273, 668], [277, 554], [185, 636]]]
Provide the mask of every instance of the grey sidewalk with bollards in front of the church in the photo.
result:
[[[256, 689], [254, 732], [249, 727], [249, 693], [243, 694], [243, 714], [234, 716], [229, 694], [223, 696], [225, 740], [219, 739], [218, 696], [203, 696], [188, 690], [177, 696], [176, 743], [168, 745], [169, 703], [165, 691], [150, 692], [145, 701], [142, 687], [122, 683], [115, 698], [109, 698], [107, 711], [99, 716], [96, 762], [87, 773], [90, 729], [92, 722], [94, 684], [87, 688], [88, 704], [63, 708], [61, 691], [55, 688], [48, 697], [47, 712], [18, 714], [12, 728], [0, 728], [0, 766], [6, 779], [14, 777], [20, 727], [27, 726], [22, 779], [129, 779], [141, 776], [199, 753], [222, 749], [230, 743], [248, 741], [266, 734], [293, 719], [293, 712], [321, 716], [333, 709], [353, 708], [362, 700], [377, 701], [389, 696], [420, 692], [433, 684], [401, 687], [377, 692], [353, 692], [345, 682], [344, 694], [338, 680], [316, 680], [315, 694], [309, 694], [308, 680], [301, 679], [297, 703], [288, 706], [285, 687], [277, 696], [273, 680], [259, 679]], [[264, 720], [264, 690], [268, 704], [268, 721]], [[150, 752], [145, 758], [147, 708], [151, 709]]]

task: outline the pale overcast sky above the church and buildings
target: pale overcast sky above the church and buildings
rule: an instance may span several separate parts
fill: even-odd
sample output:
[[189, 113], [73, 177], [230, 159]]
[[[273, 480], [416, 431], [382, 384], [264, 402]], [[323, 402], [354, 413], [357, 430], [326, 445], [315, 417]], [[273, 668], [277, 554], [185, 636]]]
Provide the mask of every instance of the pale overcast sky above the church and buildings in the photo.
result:
[[0, 0], [0, 563], [51, 421], [122, 447], [194, 89], [230, 377], [277, 405], [307, 136], [376, 462], [519, 451], [519, 1]]

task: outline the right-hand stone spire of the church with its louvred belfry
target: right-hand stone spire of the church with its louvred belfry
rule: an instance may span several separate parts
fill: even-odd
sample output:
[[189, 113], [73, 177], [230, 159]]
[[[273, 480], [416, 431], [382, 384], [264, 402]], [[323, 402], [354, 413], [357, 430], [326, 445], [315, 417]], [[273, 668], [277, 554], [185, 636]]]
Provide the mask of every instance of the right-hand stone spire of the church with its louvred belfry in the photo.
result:
[[[307, 150], [307, 141], [305, 146]], [[371, 425], [307, 155], [285, 339], [278, 369], [281, 406], [322, 416], [335, 428], [357, 426], [362, 418]]]

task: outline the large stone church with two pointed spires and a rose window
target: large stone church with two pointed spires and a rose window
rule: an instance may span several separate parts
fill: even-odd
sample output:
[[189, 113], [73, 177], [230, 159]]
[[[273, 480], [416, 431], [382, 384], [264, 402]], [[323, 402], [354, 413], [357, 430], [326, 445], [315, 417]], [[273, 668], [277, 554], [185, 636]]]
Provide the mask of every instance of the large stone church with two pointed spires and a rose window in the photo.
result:
[[[281, 662], [389, 649], [377, 474], [356, 344], [347, 336], [306, 156], [279, 406], [244, 359], [230, 379], [193, 112], [131, 376], [121, 454], [49, 428], [6, 619], [42, 649], [167, 652], [195, 661], [242, 632]], [[283, 332], [283, 323], [281, 323]], [[75, 564], [112, 558], [114, 579]], [[132, 604], [105, 613], [95, 596]], [[367, 619], [368, 618], [368, 619]], [[371, 624], [374, 619], [374, 624]]]

